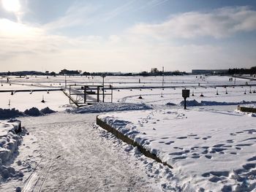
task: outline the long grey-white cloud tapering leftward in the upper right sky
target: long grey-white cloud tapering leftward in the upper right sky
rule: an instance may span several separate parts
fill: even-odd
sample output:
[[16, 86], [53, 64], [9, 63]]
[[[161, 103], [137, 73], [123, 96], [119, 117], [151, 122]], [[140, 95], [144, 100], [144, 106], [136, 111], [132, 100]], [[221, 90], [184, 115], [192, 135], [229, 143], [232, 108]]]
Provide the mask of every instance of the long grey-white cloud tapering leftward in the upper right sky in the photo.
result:
[[256, 30], [256, 11], [249, 7], [225, 7], [211, 12], [185, 12], [171, 16], [163, 23], [140, 23], [130, 31], [157, 39], [231, 37], [238, 32]]

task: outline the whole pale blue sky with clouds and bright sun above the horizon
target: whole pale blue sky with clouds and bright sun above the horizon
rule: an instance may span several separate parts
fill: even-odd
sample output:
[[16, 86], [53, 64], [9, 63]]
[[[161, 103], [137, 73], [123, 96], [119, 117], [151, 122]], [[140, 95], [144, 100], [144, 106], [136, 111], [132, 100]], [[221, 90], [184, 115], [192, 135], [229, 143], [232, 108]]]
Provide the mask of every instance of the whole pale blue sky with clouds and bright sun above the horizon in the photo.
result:
[[0, 72], [256, 66], [255, 0], [0, 0]]

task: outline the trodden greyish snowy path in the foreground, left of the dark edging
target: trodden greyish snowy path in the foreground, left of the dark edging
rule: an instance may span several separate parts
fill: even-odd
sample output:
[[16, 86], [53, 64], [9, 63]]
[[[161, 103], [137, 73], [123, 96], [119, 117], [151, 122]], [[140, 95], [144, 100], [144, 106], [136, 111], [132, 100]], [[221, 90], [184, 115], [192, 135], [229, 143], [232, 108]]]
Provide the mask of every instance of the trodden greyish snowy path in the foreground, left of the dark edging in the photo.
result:
[[23, 118], [42, 159], [23, 191], [158, 191], [140, 166], [100, 136], [95, 115]]

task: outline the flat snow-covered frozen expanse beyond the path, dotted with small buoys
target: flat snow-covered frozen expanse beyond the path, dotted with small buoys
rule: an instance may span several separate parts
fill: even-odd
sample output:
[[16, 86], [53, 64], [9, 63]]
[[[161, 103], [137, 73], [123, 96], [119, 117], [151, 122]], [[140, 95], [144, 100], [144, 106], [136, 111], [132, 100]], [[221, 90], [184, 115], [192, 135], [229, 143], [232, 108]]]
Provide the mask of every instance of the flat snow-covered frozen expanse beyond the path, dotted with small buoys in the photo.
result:
[[[53, 88], [65, 88], [64, 76], [30, 76], [30, 77], [0, 77], [1, 91], [18, 90], [38, 90], [40, 92], [11, 92], [0, 93], [0, 108], [16, 108], [24, 111], [31, 107], [37, 107], [39, 110], [49, 107], [51, 110], [65, 110], [69, 105], [69, 99], [61, 91], [50, 91]], [[164, 77], [164, 86], [162, 89], [162, 77], [105, 77], [105, 85], [113, 85], [114, 103], [144, 103], [154, 105], [181, 104], [181, 90], [185, 87], [190, 90], [188, 100], [216, 101], [233, 104], [240, 104], [242, 101], [254, 101], [256, 93], [256, 80], [246, 80], [236, 78], [236, 82], [229, 81], [230, 77], [225, 76], [167, 76]], [[67, 88], [69, 85], [101, 85], [102, 77], [81, 77], [67, 76]], [[140, 83], [139, 83], [140, 80]], [[200, 86], [198, 85], [200, 83]], [[248, 85], [246, 85], [246, 83]], [[11, 84], [11, 85], [10, 85]], [[227, 88], [217, 87], [220, 85], [229, 85]], [[241, 86], [236, 86], [241, 85]], [[145, 88], [147, 87], [147, 88]], [[49, 94], [48, 94], [49, 91]], [[67, 91], [69, 92], [69, 91]], [[81, 92], [82, 93], [82, 92]], [[217, 95], [218, 93], [218, 95]], [[245, 94], [246, 93], [246, 94]], [[192, 96], [194, 94], [194, 96]], [[203, 94], [203, 97], [200, 96]], [[142, 99], [138, 99], [139, 96]], [[45, 98], [45, 104], [42, 104], [42, 97]], [[76, 96], [72, 96], [76, 99]], [[105, 101], [110, 101], [110, 96], [106, 96]], [[10, 105], [9, 105], [10, 104]], [[208, 103], [210, 104], [210, 103]], [[205, 104], [206, 105], [206, 104]]]

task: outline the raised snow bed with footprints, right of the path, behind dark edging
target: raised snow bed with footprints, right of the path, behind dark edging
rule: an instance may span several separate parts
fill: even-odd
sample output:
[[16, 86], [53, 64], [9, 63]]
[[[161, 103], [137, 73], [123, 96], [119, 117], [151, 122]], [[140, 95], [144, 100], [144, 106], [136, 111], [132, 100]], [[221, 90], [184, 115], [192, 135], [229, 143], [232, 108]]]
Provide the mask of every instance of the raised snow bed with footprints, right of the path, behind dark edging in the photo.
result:
[[256, 118], [216, 110], [146, 110], [100, 119], [173, 166], [181, 191], [252, 191]]

